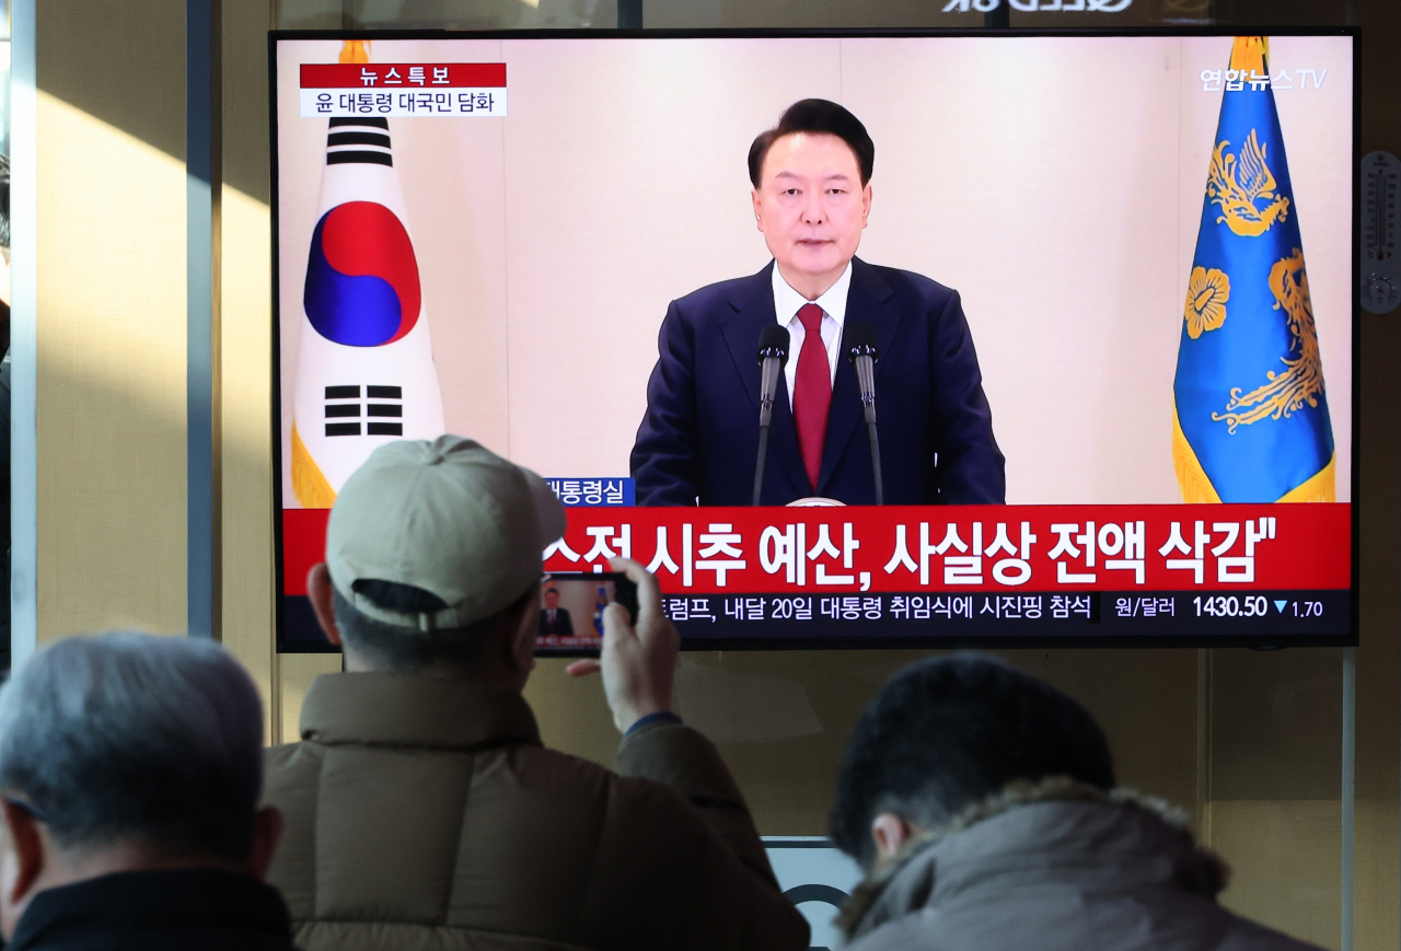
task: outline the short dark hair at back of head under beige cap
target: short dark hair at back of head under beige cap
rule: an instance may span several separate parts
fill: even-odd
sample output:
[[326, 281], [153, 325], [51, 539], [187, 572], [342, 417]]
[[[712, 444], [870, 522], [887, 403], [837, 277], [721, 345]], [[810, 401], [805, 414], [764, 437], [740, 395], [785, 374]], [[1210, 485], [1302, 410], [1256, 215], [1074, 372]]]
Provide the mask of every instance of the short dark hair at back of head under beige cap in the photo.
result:
[[[433, 664], [451, 667], [476, 664], [502, 626], [518, 618], [525, 605], [534, 602], [537, 587], [531, 584], [518, 598], [490, 618], [467, 627], [444, 630], [423, 632], [370, 618], [356, 611], [340, 591], [332, 595], [332, 611], [340, 639], [347, 647], [381, 669], [412, 674]], [[354, 583], [354, 591], [385, 611], [410, 615], [437, 613], [448, 606], [432, 591], [396, 581], [363, 578]]]

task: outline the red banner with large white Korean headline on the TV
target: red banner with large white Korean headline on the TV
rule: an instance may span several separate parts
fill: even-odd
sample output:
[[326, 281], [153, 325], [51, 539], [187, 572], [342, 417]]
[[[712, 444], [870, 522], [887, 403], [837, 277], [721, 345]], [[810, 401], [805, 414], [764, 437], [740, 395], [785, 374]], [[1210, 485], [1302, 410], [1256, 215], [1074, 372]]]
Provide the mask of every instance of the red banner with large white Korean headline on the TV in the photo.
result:
[[[287, 594], [326, 510], [283, 513]], [[1321, 591], [1352, 584], [1351, 506], [570, 508], [546, 571], [646, 564], [663, 591]]]

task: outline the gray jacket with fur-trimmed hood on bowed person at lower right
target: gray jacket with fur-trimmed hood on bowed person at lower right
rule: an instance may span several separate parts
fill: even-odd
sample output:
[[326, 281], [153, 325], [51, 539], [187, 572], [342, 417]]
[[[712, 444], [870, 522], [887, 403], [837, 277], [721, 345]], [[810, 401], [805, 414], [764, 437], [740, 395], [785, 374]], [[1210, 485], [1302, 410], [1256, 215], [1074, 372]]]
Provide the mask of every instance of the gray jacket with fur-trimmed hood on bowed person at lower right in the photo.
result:
[[1216, 903], [1226, 866], [1161, 800], [1014, 783], [842, 909], [846, 951], [1321, 951]]

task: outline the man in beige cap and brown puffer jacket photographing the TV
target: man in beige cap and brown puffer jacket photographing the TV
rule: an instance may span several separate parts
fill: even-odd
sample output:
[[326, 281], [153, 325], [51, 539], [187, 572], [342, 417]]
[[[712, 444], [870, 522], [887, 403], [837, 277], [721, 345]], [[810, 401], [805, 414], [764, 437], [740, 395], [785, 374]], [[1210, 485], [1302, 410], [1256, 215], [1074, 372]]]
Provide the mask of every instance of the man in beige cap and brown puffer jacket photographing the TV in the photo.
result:
[[656, 580], [598, 661], [618, 772], [541, 747], [521, 689], [541, 552], [565, 511], [471, 440], [381, 447], [346, 482], [307, 591], [345, 674], [269, 752], [286, 817], [269, 881], [297, 944], [569, 951], [807, 947], [715, 747], [671, 714], [678, 636]]

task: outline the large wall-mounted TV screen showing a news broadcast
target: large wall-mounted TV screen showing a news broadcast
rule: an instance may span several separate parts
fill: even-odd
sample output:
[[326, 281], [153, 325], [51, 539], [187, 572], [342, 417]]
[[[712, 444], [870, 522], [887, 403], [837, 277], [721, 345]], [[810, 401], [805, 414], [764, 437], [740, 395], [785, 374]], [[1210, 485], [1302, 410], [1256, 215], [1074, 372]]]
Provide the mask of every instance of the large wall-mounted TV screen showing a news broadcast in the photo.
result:
[[1353, 63], [273, 34], [279, 646], [346, 478], [443, 431], [688, 647], [1355, 643]]

